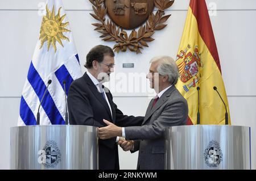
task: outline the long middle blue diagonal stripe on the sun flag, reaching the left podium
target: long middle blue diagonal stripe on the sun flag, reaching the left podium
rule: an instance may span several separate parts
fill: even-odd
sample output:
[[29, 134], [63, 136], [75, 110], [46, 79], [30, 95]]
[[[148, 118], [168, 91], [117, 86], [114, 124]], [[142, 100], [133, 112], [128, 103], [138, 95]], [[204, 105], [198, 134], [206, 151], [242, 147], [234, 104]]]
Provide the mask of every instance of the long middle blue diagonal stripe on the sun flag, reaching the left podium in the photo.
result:
[[[33, 87], [34, 91], [36, 92], [36, 95], [38, 95], [39, 100], [41, 100], [44, 91], [46, 90], [46, 85], [44, 84], [42, 78], [38, 74], [38, 71], [36, 71], [36, 69], [34, 68], [32, 62], [30, 64], [30, 69], [28, 70], [27, 79]], [[42, 107], [52, 124], [65, 123], [48, 90], [46, 91], [46, 95], [44, 96]]]

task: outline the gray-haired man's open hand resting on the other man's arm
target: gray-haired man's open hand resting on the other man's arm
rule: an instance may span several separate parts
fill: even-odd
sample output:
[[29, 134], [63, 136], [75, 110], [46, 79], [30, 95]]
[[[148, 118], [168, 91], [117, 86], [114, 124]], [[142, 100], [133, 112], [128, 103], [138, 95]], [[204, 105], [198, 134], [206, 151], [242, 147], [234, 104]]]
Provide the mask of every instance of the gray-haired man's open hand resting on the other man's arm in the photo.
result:
[[122, 128], [117, 127], [113, 123], [110, 123], [107, 120], [103, 120], [106, 123], [106, 127], [98, 128], [98, 137], [101, 140], [106, 140], [115, 136], [122, 136]]

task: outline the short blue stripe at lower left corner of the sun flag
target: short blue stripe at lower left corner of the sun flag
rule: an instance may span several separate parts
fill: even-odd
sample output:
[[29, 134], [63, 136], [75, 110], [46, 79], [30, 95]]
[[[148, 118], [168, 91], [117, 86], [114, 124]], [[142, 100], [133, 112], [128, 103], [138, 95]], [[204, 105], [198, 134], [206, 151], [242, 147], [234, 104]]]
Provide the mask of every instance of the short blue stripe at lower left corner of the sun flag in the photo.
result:
[[28, 107], [27, 102], [23, 98], [23, 96], [20, 99], [19, 115], [26, 125], [36, 124], [35, 116], [33, 112], [30, 110], [30, 107]]

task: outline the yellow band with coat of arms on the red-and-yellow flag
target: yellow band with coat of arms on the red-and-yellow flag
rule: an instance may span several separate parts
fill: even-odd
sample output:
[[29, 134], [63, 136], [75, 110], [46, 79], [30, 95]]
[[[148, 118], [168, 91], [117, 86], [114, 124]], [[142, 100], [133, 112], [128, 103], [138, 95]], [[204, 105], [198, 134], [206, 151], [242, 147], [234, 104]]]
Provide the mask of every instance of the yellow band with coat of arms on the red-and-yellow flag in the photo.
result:
[[179, 61], [176, 61], [177, 65], [182, 66], [179, 67], [181, 77], [176, 87], [184, 98], [187, 99], [188, 115], [193, 124], [196, 124], [197, 121], [197, 86], [200, 87], [200, 124], [225, 124], [225, 107], [217, 92], [213, 90], [213, 86], [216, 86], [226, 103], [229, 115], [228, 99], [221, 71], [207, 44], [201, 37], [198, 27], [197, 19], [189, 6], [183, 35], [177, 52], [180, 55], [182, 54], [180, 52], [185, 51], [182, 57], [185, 65], [181, 64], [181, 58], [177, 59]]

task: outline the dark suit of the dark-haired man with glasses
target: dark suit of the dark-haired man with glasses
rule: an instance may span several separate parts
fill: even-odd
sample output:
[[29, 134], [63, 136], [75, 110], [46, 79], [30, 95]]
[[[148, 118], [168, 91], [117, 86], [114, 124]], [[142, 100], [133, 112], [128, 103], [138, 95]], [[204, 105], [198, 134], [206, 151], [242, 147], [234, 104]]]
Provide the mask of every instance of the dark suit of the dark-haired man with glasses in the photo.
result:
[[[142, 124], [144, 117], [123, 115], [106, 87], [105, 92], [112, 109], [113, 119], [108, 103], [86, 73], [73, 81], [68, 92], [69, 123], [105, 127], [103, 119], [106, 119], [120, 127]], [[98, 141], [99, 169], [119, 169], [118, 147], [115, 140], [116, 137]]]

